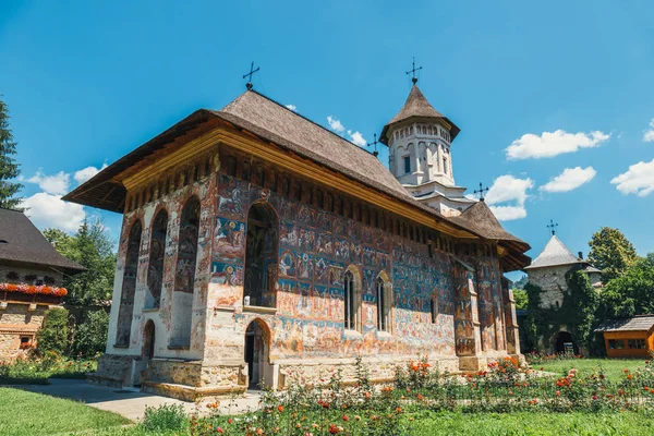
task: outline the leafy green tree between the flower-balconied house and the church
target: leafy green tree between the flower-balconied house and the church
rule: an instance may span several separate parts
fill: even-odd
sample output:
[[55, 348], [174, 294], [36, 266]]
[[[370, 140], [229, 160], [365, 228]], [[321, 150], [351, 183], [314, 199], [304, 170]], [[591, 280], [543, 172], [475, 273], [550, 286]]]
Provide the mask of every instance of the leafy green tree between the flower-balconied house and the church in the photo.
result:
[[86, 267], [86, 271], [64, 279], [69, 304], [88, 304], [109, 300], [113, 291], [116, 253], [101, 220], [86, 220], [77, 232], [68, 235], [58, 229], [46, 229], [44, 235], [59, 253]]

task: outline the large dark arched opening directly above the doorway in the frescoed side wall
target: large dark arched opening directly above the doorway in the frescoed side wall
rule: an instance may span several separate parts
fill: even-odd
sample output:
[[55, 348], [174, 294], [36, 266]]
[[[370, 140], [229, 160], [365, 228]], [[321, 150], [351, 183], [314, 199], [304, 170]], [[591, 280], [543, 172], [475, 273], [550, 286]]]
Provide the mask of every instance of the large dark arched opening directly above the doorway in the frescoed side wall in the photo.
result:
[[[243, 305], [276, 307], [278, 268], [277, 213], [269, 203], [255, 203], [247, 213]], [[308, 265], [304, 265], [305, 268]]]

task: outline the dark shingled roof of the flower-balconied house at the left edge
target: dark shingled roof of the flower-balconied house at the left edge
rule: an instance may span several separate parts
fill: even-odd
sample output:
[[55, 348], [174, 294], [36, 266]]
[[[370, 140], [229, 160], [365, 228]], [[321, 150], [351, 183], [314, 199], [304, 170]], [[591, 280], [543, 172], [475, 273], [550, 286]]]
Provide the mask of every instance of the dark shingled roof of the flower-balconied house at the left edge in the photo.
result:
[[86, 270], [59, 254], [25, 214], [0, 208], [0, 264], [7, 263], [61, 268], [68, 274]]

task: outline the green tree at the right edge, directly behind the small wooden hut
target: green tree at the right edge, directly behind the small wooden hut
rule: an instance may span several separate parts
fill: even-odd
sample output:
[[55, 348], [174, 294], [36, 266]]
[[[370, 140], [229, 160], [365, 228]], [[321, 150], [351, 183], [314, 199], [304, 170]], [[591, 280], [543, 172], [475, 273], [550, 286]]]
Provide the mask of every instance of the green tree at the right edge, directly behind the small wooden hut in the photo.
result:
[[654, 313], [654, 253], [642, 258], [602, 290], [598, 317], [628, 317]]

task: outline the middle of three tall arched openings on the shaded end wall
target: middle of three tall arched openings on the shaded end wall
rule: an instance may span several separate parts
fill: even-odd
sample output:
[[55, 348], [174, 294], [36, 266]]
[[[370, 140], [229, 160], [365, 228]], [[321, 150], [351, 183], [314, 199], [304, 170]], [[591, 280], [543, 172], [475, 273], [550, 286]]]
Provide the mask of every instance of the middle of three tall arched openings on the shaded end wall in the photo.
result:
[[161, 299], [161, 284], [164, 280], [164, 259], [166, 258], [166, 231], [168, 228], [168, 214], [161, 209], [153, 221], [150, 232], [150, 255], [147, 265], [147, 289], [145, 308], [159, 307]]

